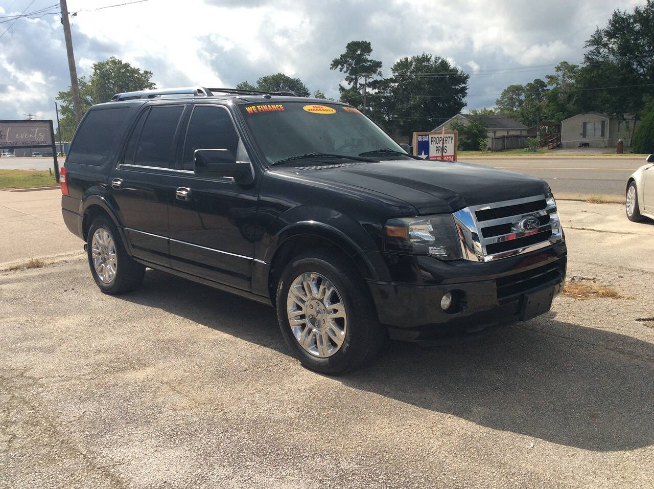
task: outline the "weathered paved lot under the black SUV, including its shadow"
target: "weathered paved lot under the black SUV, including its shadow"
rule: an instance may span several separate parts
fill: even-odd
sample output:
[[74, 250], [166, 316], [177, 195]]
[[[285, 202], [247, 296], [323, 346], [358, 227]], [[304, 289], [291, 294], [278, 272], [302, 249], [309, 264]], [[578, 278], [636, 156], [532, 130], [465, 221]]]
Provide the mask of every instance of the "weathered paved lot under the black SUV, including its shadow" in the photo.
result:
[[626, 298], [561, 295], [336, 378], [288, 355], [266, 306], [154, 270], [103, 295], [80, 251], [5, 266], [0, 486], [651, 488], [654, 225], [559, 208], [568, 278]]

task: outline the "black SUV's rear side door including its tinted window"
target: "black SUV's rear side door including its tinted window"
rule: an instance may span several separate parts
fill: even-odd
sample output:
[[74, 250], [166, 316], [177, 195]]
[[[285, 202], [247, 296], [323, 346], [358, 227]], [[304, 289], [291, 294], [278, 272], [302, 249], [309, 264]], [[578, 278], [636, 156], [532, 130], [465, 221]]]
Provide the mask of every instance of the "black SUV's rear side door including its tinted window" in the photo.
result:
[[170, 266], [168, 209], [185, 104], [150, 105], [137, 118], [109, 192], [135, 257]]

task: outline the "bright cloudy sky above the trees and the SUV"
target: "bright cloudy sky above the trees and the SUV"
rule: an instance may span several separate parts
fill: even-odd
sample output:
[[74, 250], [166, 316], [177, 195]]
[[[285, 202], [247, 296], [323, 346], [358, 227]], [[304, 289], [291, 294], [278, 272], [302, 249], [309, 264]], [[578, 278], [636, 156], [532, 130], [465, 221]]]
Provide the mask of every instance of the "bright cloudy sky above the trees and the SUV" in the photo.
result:
[[[579, 63], [583, 45], [615, 9], [645, 0], [68, 0], [78, 76], [116, 56], [154, 73], [160, 88], [233, 87], [279, 71], [338, 99], [330, 63], [349, 41], [370, 41], [384, 76], [428, 52], [470, 73], [470, 109], [492, 107], [509, 84]], [[31, 3], [31, 5], [30, 5]], [[0, 119], [55, 119], [70, 86], [58, 0], [0, 0]], [[100, 10], [97, 10], [100, 9]], [[10, 29], [7, 31], [7, 28]], [[4, 34], [3, 34], [4, 33]]]

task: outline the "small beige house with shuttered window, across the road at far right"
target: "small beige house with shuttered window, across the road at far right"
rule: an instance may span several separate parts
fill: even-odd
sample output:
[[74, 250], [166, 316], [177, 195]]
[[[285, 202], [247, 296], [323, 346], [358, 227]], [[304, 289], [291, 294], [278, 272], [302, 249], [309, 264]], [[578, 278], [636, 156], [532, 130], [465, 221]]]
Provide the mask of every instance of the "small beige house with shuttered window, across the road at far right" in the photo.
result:
[[627, 146], [631, 144], [634, 124], [632, 115], [625, 115], [625, 120], [602, 112], [573, 115], [561, 121], [561, 145], [564, 148], [614, 148], [618, 139], [623, 139]]

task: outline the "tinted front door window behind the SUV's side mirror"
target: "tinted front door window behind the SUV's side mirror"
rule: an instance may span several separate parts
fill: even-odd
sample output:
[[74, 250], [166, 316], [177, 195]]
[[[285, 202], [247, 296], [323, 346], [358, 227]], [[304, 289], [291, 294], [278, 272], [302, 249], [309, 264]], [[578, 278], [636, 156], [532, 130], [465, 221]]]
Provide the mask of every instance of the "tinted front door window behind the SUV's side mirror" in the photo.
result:
[[236, 156], [239, 143], [232, 118], [226, 109], [211, 105], [196, 105], [186, 131], [182, 170], [194, 170], [196, 149], [228, 149]]

